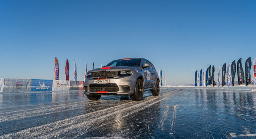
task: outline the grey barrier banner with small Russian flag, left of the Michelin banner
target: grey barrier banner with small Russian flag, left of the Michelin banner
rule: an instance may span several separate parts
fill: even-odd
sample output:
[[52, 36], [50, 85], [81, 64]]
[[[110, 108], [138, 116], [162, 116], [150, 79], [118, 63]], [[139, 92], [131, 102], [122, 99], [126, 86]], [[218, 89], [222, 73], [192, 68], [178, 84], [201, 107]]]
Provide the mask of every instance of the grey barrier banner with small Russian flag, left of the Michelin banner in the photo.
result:
[[4, 78], [4, 93], [7, 92], [30, 92], [31, 79], [8, 79]]

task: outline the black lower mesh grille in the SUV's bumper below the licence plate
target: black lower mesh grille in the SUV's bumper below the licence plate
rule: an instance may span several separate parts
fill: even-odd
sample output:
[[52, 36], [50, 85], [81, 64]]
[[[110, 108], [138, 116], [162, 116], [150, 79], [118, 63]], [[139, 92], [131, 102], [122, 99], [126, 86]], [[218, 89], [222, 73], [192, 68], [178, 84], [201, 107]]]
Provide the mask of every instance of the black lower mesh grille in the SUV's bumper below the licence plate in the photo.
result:
[[90, 92], [98, 92], [98, 91], [109, 91], [109, 92], [117, 92], [119, 91], [119, 87], [115, 83], [109, 84], [90, 84], [89, 85]]

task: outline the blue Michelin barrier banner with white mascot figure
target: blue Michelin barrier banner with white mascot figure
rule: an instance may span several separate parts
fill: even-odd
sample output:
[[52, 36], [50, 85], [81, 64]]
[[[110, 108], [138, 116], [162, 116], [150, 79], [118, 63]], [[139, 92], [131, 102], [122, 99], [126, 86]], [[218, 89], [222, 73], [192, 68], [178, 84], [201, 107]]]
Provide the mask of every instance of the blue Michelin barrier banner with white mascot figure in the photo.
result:
[[31, 91], [52, 91], [52, 80], [31, 79]]

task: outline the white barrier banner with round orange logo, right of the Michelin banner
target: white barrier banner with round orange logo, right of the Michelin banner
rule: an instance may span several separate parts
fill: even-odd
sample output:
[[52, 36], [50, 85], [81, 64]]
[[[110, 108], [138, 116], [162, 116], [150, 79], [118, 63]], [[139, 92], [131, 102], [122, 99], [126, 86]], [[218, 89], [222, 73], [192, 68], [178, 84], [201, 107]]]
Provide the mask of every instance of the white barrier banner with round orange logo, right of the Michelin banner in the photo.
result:
[[52, 91], [69, 91], [70, 81], [53, 80]]

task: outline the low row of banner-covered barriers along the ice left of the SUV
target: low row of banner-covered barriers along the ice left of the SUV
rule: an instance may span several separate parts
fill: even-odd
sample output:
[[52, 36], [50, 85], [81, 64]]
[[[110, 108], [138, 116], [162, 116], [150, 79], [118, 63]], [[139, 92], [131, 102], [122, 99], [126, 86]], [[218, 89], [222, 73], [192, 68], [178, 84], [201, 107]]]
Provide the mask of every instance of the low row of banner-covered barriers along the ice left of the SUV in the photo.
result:
[[0, 78], [0, 93], [83, 90], [83, 81]]

